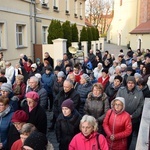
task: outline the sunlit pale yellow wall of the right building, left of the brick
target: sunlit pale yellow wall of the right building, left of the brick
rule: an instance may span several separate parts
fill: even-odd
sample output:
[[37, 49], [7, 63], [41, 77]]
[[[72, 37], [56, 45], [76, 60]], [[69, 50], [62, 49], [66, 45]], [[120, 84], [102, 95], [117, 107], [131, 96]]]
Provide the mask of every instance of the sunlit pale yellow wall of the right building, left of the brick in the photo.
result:
[[114, 0], [114, 18], [107, 33], [111, 43], [127, 46], [132, 31], [139, 22], [139, 0]]

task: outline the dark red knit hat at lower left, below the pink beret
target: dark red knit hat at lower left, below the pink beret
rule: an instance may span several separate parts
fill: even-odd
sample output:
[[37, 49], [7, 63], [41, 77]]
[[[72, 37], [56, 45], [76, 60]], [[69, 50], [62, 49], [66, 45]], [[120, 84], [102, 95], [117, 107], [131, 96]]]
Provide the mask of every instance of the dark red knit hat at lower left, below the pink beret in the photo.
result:
[[23, 110], [17, 110], [14, 112], [11, 122], [27, 122], [29, 116]]

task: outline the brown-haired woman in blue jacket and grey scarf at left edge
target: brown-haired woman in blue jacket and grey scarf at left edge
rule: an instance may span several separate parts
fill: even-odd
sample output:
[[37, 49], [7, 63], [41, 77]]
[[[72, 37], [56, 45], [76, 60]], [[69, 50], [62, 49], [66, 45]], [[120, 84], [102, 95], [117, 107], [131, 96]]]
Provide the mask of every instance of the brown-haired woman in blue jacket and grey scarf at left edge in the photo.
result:
[[6, 149], [12, 115], [13, 112], [9, 106], [9, 98], [0, 96], [0, 149]]

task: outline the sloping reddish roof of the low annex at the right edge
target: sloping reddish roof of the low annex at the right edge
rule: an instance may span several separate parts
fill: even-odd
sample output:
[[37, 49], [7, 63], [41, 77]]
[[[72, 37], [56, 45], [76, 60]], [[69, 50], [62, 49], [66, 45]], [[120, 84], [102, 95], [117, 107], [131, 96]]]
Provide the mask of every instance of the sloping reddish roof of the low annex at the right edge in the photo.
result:
[[150, 33], [150, 21], [141, 23], [130, 34], [148, 34]]

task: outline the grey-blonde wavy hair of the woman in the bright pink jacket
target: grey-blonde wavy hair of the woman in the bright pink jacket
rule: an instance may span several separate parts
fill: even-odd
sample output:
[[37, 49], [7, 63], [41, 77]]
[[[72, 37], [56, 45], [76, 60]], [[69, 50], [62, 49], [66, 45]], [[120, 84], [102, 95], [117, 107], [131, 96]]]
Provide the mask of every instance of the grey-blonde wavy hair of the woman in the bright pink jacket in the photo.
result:
[[82, 127], [82, 123], [84, 122], [88, 122], [91, 126], [93, 126], [93, 131], [97, 131], [98, 130], [98, 124], [96, 119], [93, 116], [89, 116], [89, 115], [84, 115], [80, 121], [80, 130]]

